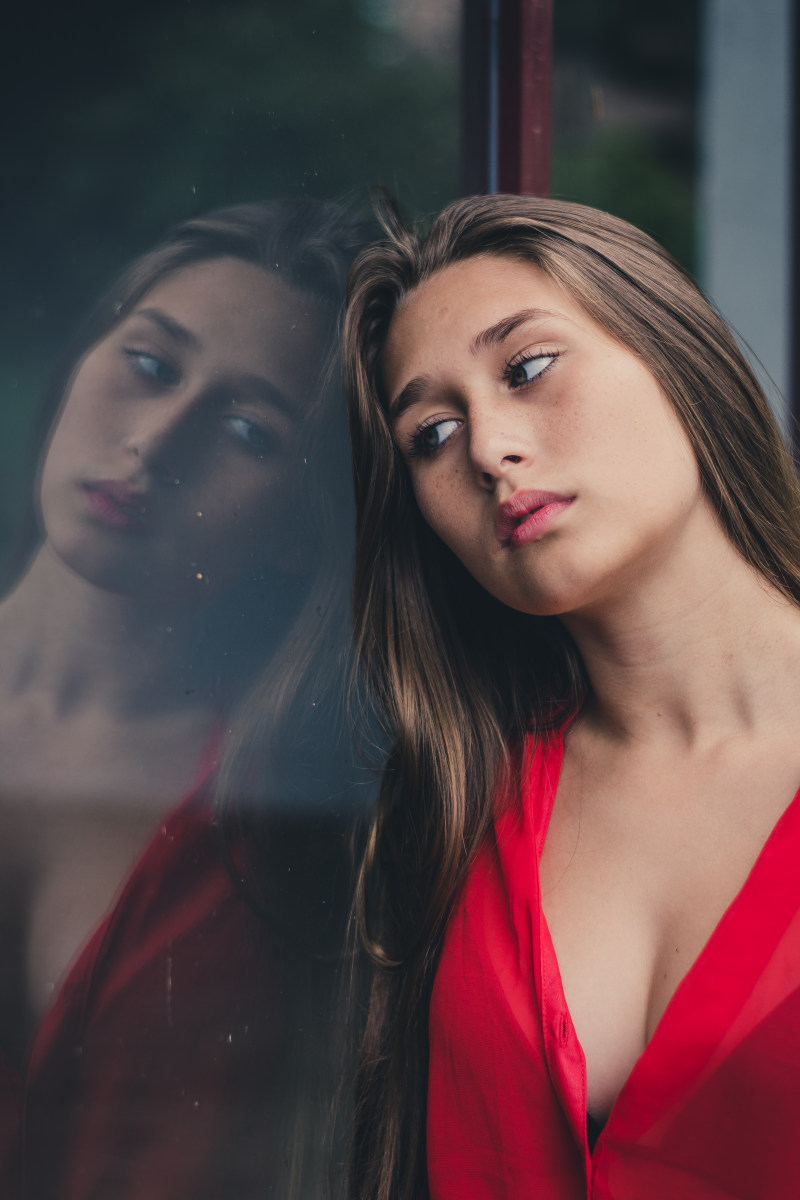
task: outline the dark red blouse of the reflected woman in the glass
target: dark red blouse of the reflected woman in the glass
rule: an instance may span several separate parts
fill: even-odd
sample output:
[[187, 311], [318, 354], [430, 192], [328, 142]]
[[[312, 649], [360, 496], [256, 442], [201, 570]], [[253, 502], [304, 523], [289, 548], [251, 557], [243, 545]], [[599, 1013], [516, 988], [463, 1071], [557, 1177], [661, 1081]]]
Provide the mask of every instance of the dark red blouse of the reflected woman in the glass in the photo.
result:
[[4, 1200], [270, 1194], [275, 958], [229, 880], [200, 788], [79, 955], [26, 1079], [0, 1063]]

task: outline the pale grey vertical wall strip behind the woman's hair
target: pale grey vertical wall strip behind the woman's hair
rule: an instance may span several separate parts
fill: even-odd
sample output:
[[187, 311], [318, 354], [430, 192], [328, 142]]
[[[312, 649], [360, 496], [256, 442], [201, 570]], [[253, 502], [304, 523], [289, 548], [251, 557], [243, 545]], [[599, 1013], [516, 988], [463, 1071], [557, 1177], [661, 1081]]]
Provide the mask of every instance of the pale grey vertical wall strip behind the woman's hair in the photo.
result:
[[784, 428], [790, 23], [792, 0], [706, 0], [700, 124], [700, 282], [748, 343]]

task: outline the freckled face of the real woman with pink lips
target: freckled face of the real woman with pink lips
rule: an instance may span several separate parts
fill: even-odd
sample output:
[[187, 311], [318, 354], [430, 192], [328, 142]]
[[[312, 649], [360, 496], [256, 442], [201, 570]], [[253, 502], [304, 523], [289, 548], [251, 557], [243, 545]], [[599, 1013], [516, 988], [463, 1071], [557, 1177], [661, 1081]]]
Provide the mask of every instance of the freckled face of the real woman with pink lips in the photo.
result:
[[515, 608], [591, 611], [708, 520], [655, 378], [531, 264], [481, 256], [432, 276], [383, 366], [422, 515]]

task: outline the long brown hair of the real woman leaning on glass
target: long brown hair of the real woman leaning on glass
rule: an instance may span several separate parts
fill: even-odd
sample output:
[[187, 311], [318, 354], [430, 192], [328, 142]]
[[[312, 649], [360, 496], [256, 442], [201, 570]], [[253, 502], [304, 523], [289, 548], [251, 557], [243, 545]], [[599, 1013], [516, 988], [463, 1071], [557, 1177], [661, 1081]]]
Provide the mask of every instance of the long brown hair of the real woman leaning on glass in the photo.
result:
[[381, 353], [403, 299], [474, 256], [533, 263], [652, 372], [733, 545], [800, 604], [800, 488], [736, 342], [691, 277], [624, 221], [521, 196], [457, 202], [385, 239], [350, 278], [345, 379], [356, 494], [359, 660], [391, 752], [361, 870], [374, 962], [356, 1094], [351, 1194], [427, 1194], [427, 1009], [441, 935], [527, 731], [575, 714], [588, 686], [555, 618], [489, 596], [422, 521], [392, 440]]

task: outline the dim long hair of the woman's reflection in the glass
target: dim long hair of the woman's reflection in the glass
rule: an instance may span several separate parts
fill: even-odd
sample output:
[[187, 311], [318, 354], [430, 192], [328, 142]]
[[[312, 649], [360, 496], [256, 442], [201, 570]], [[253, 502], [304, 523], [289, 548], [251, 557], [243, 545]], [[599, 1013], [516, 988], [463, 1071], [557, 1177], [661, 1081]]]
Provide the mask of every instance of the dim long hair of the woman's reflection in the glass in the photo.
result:
[[[265, 919], [260, 936], [273, 956], [288, 1018], [275, 1056], [282, 1104], [264, 1140], [276, 1164], [287, 1164], [290, 1194], [303, 1195], [319, 1194], [317, 1181], [326, 1171], [330, 1147], [320, 1130], [338, 1067], [330, 1025], [319, 1034], [323, 1048], [309, 1034], [320, 1030], [320, 1009], [332, 988], [333, 955], [320, 952], [343, 941], [337, 926], [347, 899], [339, 893], [350, 883], [343, 793], [351, 773], [339, 734], [353, 499], [339, 336], [347, 274], [366, 240], [366, 226], [343, 205], [313, 199], [241, 204], [176, 226], [120, 275], [78, 328], [37, 431], [42, 461], [85, 355], [149, 292], [185, 268], [234, 258], [264, 269], [308, 301], [314, 338], [308, 354], [318, 377], [299, 419], [301, 449], [293, 466], [302, 500], [293, 506], [299, 569], [265, 571], [257, 548], [251, 577], [209, 612], [198, 650], [217, 667], [211, 786], [218, 845], [234, 886]], [[40, 538], [31, 504], [11, 563], [14, 574]], [[230, 1152], [237, 1153], [235, 1139]]]

